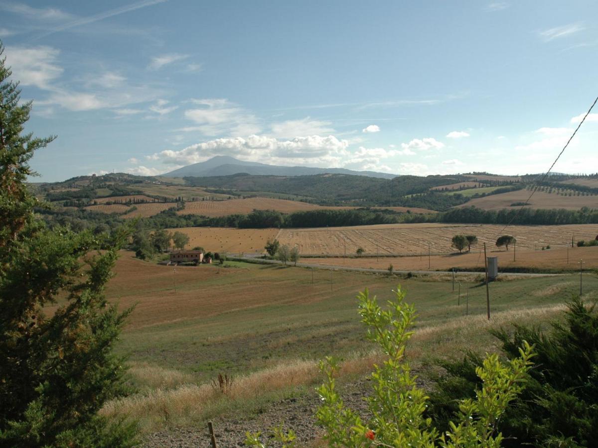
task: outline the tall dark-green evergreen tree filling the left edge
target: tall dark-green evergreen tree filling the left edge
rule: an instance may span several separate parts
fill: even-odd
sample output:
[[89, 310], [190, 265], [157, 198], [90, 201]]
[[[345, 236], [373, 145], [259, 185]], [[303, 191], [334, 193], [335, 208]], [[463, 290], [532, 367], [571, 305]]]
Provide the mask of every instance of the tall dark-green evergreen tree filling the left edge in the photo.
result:
[[0, 43], [0, 446], [132, 446], [133, 426], [98, 415], [123, 389], [112, 346], [129, 311], [103, 290], [126, 232], [91, 254], [102, 235], [48, 229], [34, 213], [28, 161], [54, 137], [23, 133], [32, 103], [19, 103], [3, 51]]

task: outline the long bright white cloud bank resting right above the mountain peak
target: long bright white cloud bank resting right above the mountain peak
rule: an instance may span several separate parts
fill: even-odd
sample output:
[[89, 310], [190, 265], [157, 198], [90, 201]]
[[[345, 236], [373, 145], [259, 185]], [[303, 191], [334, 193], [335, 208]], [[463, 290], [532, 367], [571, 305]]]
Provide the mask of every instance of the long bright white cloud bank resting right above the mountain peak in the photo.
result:
[[274, 137], [252, 135], [246, 138], [228, 137], [209, 140], [187, 146], [180, 151], [167, 149], [147, 158], [166, 164], [188, 165], [215, 155], [230, 155], [245, 160], [283, 165], [310, 163], [338, 166], [341, 159], [349, 155], [347, 146], [349, 146], [347, 140], [338, 140], [334, 136], [307, 136], [279, 140]]

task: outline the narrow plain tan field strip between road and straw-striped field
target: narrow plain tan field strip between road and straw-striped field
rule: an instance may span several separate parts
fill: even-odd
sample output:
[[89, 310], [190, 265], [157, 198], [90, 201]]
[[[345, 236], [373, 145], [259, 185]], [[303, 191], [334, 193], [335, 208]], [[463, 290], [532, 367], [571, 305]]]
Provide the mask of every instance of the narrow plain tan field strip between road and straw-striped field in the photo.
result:
[[[598, 246], [575, 247], [569, 249], [569, 263], [567, 262], [566, 247], [552, 247], [548, 250], [517, 250], [515, 261], [513, 251], [499, 250], [496, 247], [487, 248], [489, 257], [498, 257], [499, 271], [505, 268], [538, 268], [538, 269], [579, 269], [579, 259], [584, 260], [584, 269], [598, 268]], [[332, 258], [304, 258], [304, 263], [315, 265], [347, 266], [348, 268], [387, 269], [392, 264], [397, 271], [427, 271], [428, 251], [416, 256], [408, 257], [332, 257]], [[444, 271], [450, 268], [481, 269], [484, 267], [484, 252], [480, 247], [473, 248], [471, 253], [455, 253], [432, 255], [429, 269]]]

